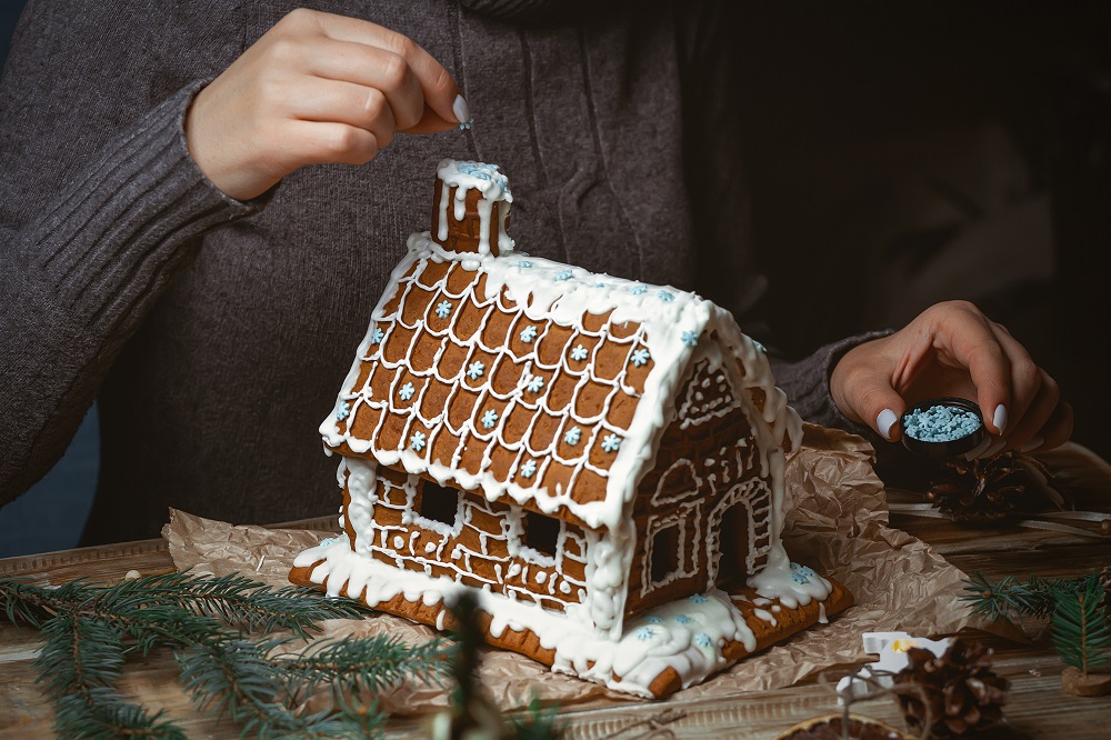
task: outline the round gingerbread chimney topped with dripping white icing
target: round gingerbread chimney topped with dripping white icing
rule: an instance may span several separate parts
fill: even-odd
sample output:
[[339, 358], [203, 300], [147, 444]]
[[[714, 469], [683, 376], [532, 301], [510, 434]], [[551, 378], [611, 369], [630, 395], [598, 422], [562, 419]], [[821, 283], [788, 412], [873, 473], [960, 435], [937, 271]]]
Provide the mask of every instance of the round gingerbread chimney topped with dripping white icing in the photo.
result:
[[444, 159], [437, 168], [432, 239], [448, 251], [499, 254], [513, 250], [513, 193], [497, 164]]

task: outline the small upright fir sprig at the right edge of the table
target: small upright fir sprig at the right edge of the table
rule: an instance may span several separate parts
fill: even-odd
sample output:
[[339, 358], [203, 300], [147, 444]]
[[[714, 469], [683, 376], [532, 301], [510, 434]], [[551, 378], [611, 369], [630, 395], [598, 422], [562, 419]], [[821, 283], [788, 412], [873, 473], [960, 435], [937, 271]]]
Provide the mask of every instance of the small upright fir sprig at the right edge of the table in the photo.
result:
[[1061, 660], [1088, 676], [1111, 664], [1111, 623], [1100, 599], [1098, 581], [1089, 581], [1083, 592], [1059, 592], [1050, 620], [1053, 647]]

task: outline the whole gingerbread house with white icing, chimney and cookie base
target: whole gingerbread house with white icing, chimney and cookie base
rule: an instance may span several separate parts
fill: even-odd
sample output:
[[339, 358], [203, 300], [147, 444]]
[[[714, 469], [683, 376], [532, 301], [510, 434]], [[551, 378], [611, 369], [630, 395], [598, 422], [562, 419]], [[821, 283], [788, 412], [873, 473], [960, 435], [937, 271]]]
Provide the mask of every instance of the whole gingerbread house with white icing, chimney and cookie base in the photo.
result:
[[728, 311], [528, 256], [444, 160], [332, 413], [344, 537], [291, 580], [661, 697], [845, 608], [779, 540], [801, 422]]

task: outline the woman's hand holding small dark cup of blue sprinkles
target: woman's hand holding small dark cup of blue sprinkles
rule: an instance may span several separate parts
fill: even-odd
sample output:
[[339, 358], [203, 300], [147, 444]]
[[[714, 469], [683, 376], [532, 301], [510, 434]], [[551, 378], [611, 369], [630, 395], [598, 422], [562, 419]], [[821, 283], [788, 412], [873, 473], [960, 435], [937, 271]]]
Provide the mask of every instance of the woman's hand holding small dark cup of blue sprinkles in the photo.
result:
[[[914, 403], [959, 396], [979, 403], [993, 436], [990, 456], [1057, 447], [1072, 433], [1072, 407], [1057, 382], [1002, 326], [967, 301], [932, 306], [904, 329], [845, 352], [830, 390], [849, 419], [884, 439]], [[977, 451], [974, 451], [977, 452]]]

